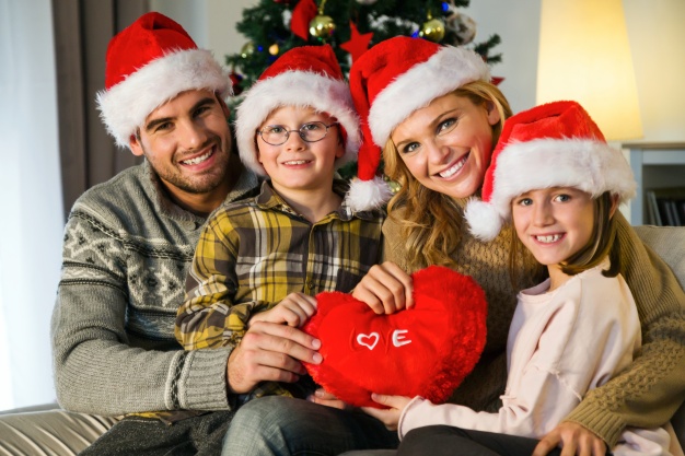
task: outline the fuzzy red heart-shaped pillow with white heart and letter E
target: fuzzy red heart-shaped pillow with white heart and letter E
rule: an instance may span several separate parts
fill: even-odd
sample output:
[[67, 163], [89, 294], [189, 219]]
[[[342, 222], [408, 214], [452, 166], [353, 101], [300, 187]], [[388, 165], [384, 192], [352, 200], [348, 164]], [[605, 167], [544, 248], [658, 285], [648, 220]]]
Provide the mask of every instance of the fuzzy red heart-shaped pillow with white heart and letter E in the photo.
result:
[[376, 315], [340, 292], [316, 295], [316, 314], [303, 330], [321, 340], [314, 381], [357, 407], [381, 405], [371, 393], [421, 396], [444, 402], [468, 375], [486, 340], [485, 292], [468, 277], [431, 266], [411, 274], [410, 309]]

